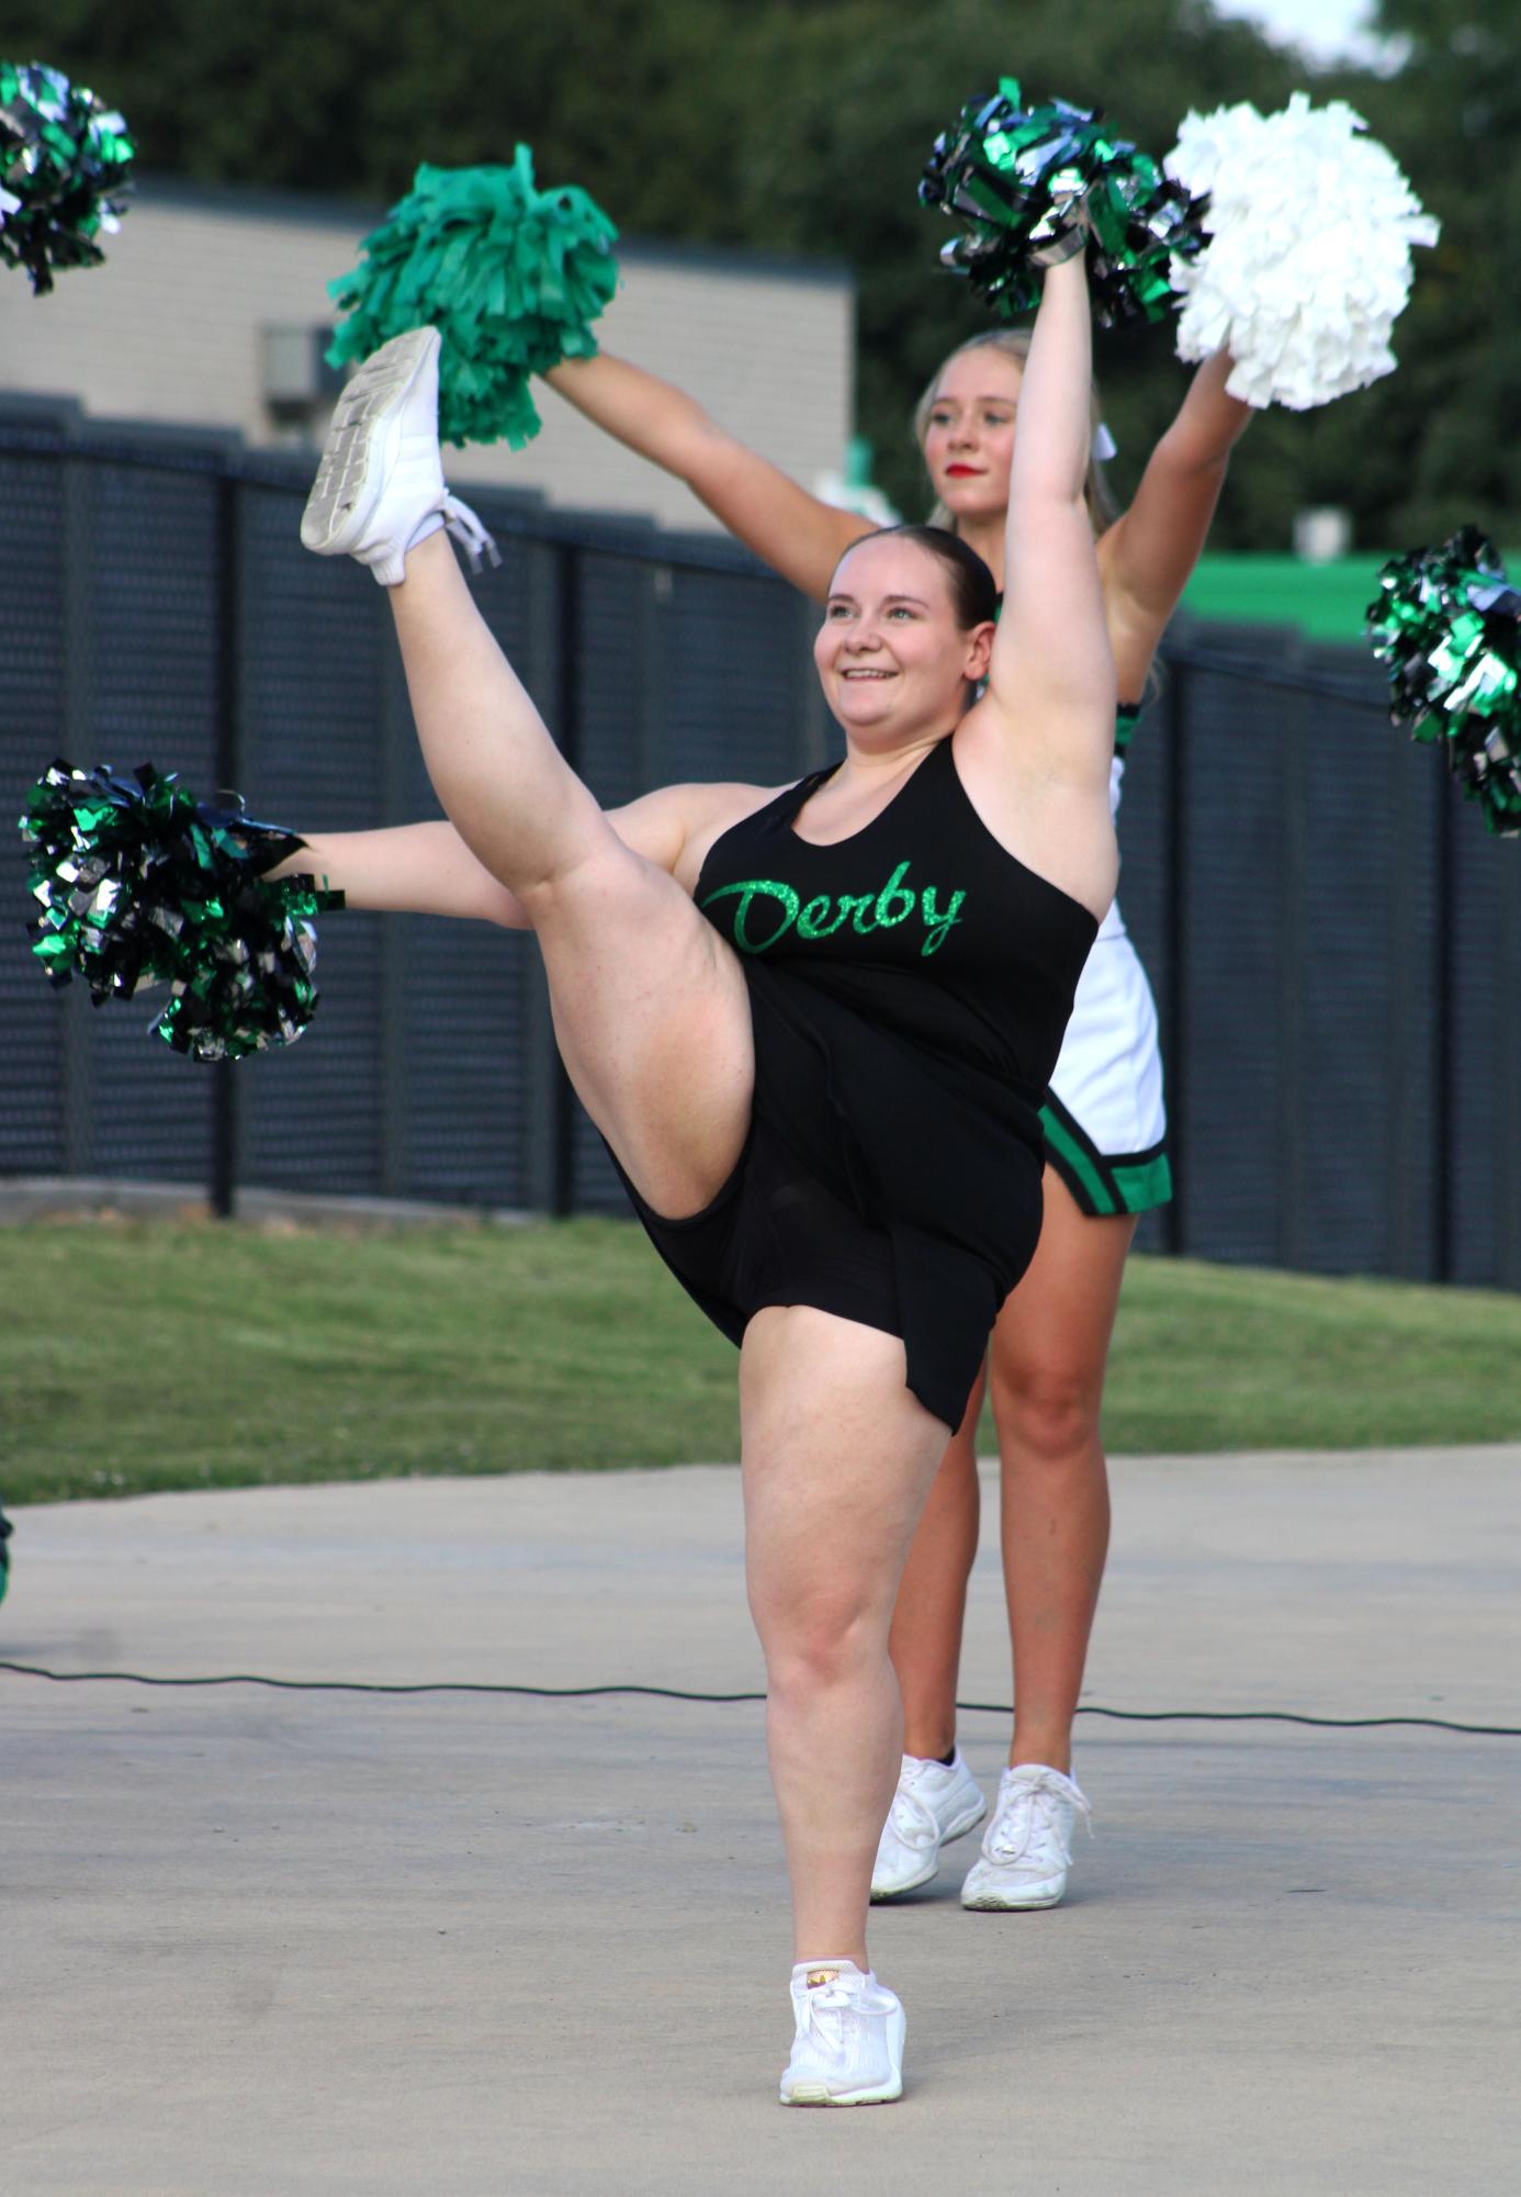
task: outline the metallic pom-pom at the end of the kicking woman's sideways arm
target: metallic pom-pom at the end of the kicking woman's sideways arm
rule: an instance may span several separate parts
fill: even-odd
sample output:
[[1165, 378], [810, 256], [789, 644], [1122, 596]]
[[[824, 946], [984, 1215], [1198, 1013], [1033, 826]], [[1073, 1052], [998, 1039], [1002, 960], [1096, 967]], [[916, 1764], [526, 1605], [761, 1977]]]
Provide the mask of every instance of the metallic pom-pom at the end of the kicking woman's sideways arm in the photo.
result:
[[55, 762], [22, 839], [42, 903], [31, 949], [55, 984], [81, 975], [97, 1006], [171, 984], [151, 1028], [198, 1061], [301, 1037], [316, 1011], [312, 916], [342, 894], [263, 877], [305, 844], [294, 833], [193, 802], [147, 762], [134, 778]]

